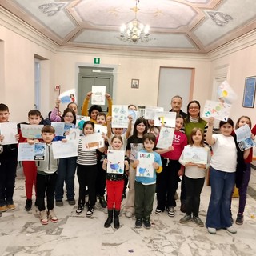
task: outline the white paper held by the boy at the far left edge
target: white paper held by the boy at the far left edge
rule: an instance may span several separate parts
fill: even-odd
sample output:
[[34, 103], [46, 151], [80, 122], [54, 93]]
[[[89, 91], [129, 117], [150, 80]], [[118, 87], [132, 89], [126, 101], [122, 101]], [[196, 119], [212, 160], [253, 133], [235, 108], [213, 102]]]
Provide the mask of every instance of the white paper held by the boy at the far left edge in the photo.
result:
[[17, 122], [1, 122], [0, 134], [4, 136], [2, 145], [17, 144], [18, 141], [15, 138], [15, 135], [18, 134]]

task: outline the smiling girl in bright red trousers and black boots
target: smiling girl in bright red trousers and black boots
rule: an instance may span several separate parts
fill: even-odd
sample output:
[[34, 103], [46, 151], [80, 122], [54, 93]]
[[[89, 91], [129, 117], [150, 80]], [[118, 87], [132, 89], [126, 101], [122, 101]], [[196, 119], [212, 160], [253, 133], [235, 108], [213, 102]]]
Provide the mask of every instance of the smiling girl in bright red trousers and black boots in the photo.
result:
[[[120, 135], [114, 135], [111, 139], [111, 146], [113, 150], [122, 150], [122, 137]], [[110, 154], [110, 153], [109, 153]], [[106, 170], [108, 160], [104, 159], [102, 168]], [[106, 174], [106, 190], [107, 190], [107, 210], [108, 218], [104, 224], [104, 227], [110, 227], [113, 222], [113, 210], [114, 210], [114, 228], [118, 229], [119, 214], [122, 202], [122, 190], [124, 186], [124, 179], [129, 171], [129, 158], [124, 154], [124, 173], [107, 173]], [[126, 175], [125, 175], [126, 174]]]

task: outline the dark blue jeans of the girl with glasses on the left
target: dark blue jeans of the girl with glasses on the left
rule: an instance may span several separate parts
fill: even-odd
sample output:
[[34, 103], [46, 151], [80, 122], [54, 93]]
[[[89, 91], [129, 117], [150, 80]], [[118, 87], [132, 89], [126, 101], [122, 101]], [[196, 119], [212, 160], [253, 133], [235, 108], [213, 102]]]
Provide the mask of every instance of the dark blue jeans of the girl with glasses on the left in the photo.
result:
[[55, 188], [55, 199], [61, 201], [64, 195], [64, 181], [66, 182], [66, 198], [74, 199], [74, 174], [77, 168], [77, 157], [61, 158], [58, 164], [58, 178]]

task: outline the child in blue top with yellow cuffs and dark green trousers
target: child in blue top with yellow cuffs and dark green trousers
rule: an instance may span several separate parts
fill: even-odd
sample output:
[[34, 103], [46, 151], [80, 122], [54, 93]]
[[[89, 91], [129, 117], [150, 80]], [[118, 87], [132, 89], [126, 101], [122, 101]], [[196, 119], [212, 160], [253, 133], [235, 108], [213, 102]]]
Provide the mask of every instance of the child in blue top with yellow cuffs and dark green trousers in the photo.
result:
[[[138, 151], [138, 156], [145, 156], [147, 158], [148, 154], [154, 154], [154, 162], [152, 166], [153, 170], [153, 177], [148, 176], [141, 176], [138, 175], [136, 172], [135, 177], [135, 227], [140, 228], [142, 227], [142, 222], [146, 229], [150, 229], [150, 215], [153, 210], [153, 202], [154, 202], [154, 193], [155, 193], [155, 182], [156, 182], [156, 173], [161, 173], [162, 171], [162, 161], [161, 157], [158, 153], [154, 152], [156, 138], [152, 133], [146, 133], [143, 135], [142, 143], [144, 149]], [[139, 166], [140, 160], [136, 159], [133, 162], [134, 169]], [[143, 166], [144, 167], [144, 166]], [[141, 168], [140, 168], [141, 169]]]

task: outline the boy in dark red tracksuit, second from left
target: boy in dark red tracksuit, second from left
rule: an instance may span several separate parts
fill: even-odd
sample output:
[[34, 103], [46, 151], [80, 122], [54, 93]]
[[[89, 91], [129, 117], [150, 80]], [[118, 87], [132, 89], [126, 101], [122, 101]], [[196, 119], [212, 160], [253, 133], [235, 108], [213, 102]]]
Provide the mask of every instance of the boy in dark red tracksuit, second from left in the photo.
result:
[[[30, 125], [39, 125], [41, 122], [41, 112], [39, 110], [30, 110], [28, 113], [28, 120]], [[33, 138], [23, 138], [22, 131], [19, 132], [19, 143], [29, 142], [30, 144], [34, 144], [38, 142], [38, 140], [34, 140]], [[23, 173], [25, 176], [25, 190], [26, 190], [26, 205], [25, 210], [32, 209], [32, 194], [33, 194], [33, 186], [36, 194], [36, 180], [37, 180], [37, 166], [35, 161], [22, 161]]]

